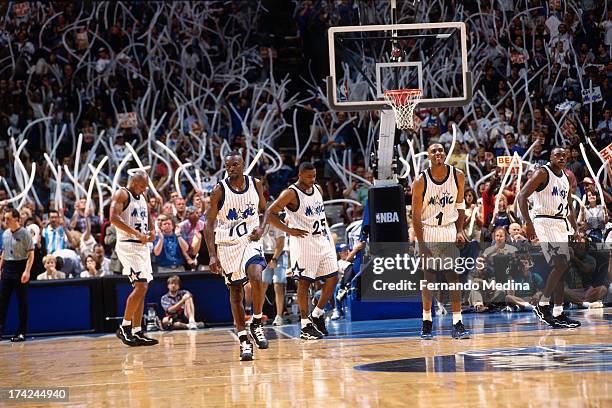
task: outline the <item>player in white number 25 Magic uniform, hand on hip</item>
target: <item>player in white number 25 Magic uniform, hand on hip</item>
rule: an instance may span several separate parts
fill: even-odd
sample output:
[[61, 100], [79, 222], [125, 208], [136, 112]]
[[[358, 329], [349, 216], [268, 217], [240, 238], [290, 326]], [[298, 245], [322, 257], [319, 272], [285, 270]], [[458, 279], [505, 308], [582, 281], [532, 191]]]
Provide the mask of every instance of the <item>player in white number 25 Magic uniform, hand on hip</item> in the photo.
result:
[[[297, 183], [284, 190], [266, 211], [263, 226], [268, 221], [287, 233], [291, 271], [299, 278], [298, 303], [301, 332], [304, 340], [327, 336], [323, 308], [331, 298], [338, 282], [336, 252], [327, 233], [325, 208], [321, 187], [315, 184], [317, 171], [310, 162], [299, 167]], [[279, 213], [287, 209], [284, 223]], [[262, 226], [262, 227], [263, 227]], [[308, 315], [308, 289], [315, 280], [324, 280], [317, 306]]]

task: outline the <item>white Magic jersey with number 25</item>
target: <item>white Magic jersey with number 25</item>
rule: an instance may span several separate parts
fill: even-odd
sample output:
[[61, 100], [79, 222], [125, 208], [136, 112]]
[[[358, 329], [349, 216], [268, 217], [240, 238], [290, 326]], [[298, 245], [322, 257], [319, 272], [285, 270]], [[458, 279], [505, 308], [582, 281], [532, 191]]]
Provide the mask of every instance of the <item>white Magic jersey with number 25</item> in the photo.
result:
[[299, 203], [296, 211], [287, 208], [287, 225], [290, 228], [308, 231], [308, 237], [327, 236], [325, 207], [319, 188], [313, 186], [310, 194], [300, 190], [296, 184], [289, 188], [296, 192]]

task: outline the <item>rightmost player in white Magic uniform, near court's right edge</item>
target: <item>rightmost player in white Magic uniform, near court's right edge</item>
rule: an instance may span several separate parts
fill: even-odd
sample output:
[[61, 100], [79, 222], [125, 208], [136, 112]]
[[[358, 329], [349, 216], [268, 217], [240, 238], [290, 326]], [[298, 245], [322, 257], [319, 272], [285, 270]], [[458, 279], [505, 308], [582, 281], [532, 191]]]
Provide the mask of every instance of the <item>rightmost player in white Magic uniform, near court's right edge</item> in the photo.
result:
[[[527, 238], [529, 241], [538, 238], [546, 261], [553, 267], [546, 280], [542, 297], [533, 309], [538, 319], [551, 327], [580, 326], [579, 321], [570, 319], [563, 313], [563, 275], [569, 267], [569, 236], [577, 231], [570, 183], [563, 171], [566, 162], [565, 149], [552, 149], [550, 161], [536, 170], [517, 197], [525, 219]], [[527, 202], [532, 195], [532, 213], [535, 214], [533, 220]], [[550, 298], [553, 294], [554, 307], [551, 310]]]

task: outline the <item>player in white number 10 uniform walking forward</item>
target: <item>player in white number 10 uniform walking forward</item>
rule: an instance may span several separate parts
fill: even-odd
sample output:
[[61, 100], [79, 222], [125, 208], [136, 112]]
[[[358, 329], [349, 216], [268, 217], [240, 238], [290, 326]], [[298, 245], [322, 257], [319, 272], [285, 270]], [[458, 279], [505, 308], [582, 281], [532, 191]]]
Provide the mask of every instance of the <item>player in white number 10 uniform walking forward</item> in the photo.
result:
[[[242, 155], [233, 151], [225, 158], [229, 177], [217, 183], [206, 212], [204, 237], [210, 254], [210, 270], [225, 276], [236, 332], [240, 340], [240, 360], [253, 359], [244, 322], [243, 285], [249, 281], [253, 293], [251, 337], [260, 349], [268, 348], [261, 323], [264, 302], [261, 274], [266, 268], [259, 230], [259, 214], [266, 209], [266, 199], [259, 180], [245, 176]], [[216, 246], [215, 246], [216, 244]]]

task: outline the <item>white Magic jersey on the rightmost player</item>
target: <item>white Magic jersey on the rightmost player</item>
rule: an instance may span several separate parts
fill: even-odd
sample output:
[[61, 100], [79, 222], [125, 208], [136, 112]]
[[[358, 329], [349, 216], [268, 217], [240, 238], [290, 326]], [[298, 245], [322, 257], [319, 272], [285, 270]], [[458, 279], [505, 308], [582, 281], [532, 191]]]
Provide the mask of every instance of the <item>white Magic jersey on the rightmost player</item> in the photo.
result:
[[543, 189], [533, 193], [532, 212], [535, 216], [566, 218], [569, 215], [567, 203], [570, 194], [569, 179], [564, 171], [561, 176], [557, 176], [548, 164], [542, 168], [548, 172], [548, 183]]

